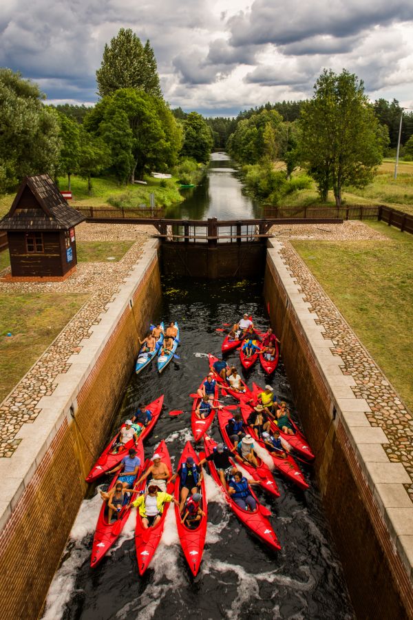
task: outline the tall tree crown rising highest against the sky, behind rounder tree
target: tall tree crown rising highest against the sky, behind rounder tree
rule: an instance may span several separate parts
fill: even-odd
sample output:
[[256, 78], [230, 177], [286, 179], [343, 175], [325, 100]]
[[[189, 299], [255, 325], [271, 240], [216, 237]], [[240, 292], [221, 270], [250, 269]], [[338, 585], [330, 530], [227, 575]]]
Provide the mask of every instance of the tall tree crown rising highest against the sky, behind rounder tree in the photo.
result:
[[149, 40], [143, 46], [130, 28], [120, 28], [110, 45], [105, 44], [96, 81], [101, 97], [120, 88], [136, 88], [162, 97], [156, 59]]

